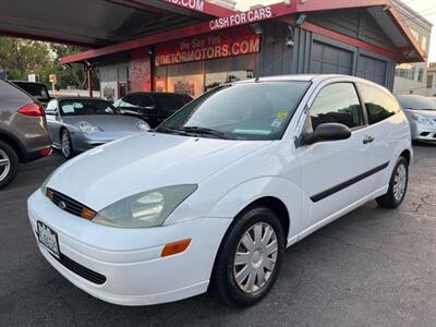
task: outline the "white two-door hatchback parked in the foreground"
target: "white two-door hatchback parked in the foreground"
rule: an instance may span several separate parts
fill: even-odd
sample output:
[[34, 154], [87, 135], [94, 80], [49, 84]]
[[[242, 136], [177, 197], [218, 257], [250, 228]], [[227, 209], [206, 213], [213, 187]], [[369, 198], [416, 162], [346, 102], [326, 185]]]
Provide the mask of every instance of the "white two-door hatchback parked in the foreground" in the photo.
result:
[[28, 199], [46, 259], [101, 300], [259, 301], [283, 251], [364, 203], [401, 204], [412, 159], [392, 95], [341, 75], [215, 88], [156, 131], [89, 150]]

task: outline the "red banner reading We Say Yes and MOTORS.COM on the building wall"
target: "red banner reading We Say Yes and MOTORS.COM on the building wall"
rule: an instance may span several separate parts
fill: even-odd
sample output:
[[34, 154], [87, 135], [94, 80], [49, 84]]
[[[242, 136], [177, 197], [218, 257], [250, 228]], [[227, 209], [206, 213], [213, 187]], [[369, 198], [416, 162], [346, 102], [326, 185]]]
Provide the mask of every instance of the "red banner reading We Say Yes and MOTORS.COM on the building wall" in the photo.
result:
[[256, 53], [261, 36], [256, 34], [204, 35], [156, 47], [155, 64], [169, 65]]

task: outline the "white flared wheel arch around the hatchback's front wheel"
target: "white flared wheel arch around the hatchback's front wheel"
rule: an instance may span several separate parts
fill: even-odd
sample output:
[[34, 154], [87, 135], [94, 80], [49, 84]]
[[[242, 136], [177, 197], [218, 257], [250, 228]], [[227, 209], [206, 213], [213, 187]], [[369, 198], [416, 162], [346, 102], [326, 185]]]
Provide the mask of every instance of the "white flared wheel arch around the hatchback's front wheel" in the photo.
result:
[[226, 193], [209, 210], [207, 217], [234, 218], [245, 207], [263, 197], [276, 197], [288, 209], [288, 240], [298, 234], [302, 213], [302, 191], [296, 184], [279, 177], [263, 177], [246, 181]]

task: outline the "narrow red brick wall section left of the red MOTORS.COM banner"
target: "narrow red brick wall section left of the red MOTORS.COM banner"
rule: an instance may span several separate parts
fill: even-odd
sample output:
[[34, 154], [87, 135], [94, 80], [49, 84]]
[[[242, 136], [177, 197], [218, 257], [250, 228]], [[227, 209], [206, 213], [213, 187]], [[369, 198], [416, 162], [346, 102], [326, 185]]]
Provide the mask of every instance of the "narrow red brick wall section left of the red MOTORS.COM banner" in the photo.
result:
[[131, 52], [130, 92], [152, 90], [152, 62], [147, 49]]

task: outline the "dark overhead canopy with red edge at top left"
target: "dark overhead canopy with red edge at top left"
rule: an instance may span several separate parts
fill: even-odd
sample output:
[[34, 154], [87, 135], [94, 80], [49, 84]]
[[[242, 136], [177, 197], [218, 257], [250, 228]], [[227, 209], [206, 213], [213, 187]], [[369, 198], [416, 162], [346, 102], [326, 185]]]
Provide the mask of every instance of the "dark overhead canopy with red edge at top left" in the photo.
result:
[[101, 48], [231, 13], [204, 0], [0, 1], [0, 35]]

